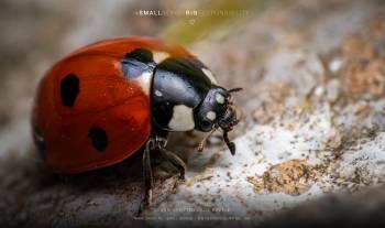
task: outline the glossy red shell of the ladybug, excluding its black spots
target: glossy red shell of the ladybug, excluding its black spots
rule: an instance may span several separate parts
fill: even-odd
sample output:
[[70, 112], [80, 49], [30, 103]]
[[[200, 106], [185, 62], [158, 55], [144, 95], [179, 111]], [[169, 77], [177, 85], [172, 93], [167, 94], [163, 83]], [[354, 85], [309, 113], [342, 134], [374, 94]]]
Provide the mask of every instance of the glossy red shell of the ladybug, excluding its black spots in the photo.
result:
[[[78, 173], [112, 165], [131, 156], [148, 140], [151, 100], [121, 68], [121, 59], [135, 48], [191, 56], [184, 48], [158, 40], [116, 39], [75, 51], [41, 80], [32, 128], [44, 139], [44, 161], [54, 172]], [[68, 74], [79, 79], [73, 107], [64, 106], [61, 98], [61, 82]], [[90, 141], [92, 127], [107, 132], [108, 146], [102, 152]]]

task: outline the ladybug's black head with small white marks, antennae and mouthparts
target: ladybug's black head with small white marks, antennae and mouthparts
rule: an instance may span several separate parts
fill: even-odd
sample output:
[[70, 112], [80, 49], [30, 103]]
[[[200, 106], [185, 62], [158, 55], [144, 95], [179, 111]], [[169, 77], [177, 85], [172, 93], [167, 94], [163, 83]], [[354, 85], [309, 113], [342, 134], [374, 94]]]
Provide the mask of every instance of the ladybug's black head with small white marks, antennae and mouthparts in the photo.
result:
[[[204, 132], [211, 131], [211, 133], [217, 129], [223, 131], [223, 140], [229, 146], [231, 154], [235, 154], [235, 144], [230, 142], [228, 132], [239, 122], [235, 107], [232, 104], [231, 93], [239, 90], [241, 88], [227, 90], [222, 87], [216, 87], [210, 89], [194, 113], [195, 128], [197, 130]], [[199, 150], [202, 150], [206, 139], [202, 141]]]

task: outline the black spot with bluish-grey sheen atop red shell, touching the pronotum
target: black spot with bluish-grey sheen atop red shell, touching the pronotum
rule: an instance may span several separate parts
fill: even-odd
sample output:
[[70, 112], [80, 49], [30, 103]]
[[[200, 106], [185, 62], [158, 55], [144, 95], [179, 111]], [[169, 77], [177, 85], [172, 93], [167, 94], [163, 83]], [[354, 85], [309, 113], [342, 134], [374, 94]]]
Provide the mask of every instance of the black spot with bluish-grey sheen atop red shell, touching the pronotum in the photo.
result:
[[144, 72], [153, 72], [155, 68], [153, 53], [145, 48], [136, 48], [127, 53], [121, 63], [123, 74], [129, 78], [139, 77]]

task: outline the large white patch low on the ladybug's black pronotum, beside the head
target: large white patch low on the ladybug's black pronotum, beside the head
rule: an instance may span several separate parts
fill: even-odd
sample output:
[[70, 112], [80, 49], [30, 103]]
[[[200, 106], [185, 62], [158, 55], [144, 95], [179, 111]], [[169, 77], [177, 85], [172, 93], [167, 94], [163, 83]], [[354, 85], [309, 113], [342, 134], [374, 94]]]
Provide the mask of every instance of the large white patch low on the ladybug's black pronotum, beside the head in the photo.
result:
[[175, 131], [193, 130], [195, 127], [193, 108], [184, 105], [174, 106], [173, 117], [168, 122], [168, 128]]

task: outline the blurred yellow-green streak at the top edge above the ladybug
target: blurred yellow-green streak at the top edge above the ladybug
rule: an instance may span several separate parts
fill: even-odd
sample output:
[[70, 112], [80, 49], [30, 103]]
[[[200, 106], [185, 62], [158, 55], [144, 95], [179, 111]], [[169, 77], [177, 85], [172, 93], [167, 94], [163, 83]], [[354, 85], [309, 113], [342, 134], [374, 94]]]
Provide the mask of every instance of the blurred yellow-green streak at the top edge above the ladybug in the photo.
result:
[[168, 23], [164, 32], [161, 32], [161, 36], [174, 43], [187, 44], [219, 30], [229, 31], [238, 22], [257, 17], [272, 6], [289, 1], [292, 0], [215, 0], [208, 3], [201, 2], [196, 6], [196, 9], [186, 9], [188, 11], [197, 10], [197, 15], [186, 15], [173, 20], [173, 23]]

